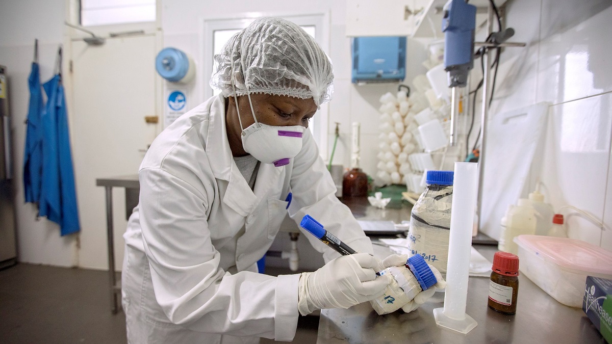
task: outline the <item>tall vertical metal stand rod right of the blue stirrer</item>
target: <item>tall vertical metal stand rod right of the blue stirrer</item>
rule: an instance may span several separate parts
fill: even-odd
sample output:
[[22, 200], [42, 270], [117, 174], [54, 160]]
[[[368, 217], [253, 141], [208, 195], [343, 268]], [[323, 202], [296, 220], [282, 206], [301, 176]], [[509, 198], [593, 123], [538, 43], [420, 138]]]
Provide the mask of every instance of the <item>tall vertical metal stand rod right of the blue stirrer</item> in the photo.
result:
[[[487, 36], [489, 36], [493, 32], [493, 9], [489, 6], [488, 10], [488, 19], [487, 19]], [[483, 59], [483, 64], [485, 65], [485, 70], [482, 75], [483, 83], [482, 83], [482, 117], [480, 119], [480, 156], [478, 159], [478, 199], [476, 202], [477, 206], [477, 214], [478, 214], [478, 230], [482, 229], [482, 185], [484, 182], [485, 176], [485, 156], [486, 156], [486, 148], [487, 144], [487, 124], [488, 124], [488, 92], [489, 92], [489, 74], [491, 66], [489, 65], [490, 52], [487, 50], [481, 57]]]

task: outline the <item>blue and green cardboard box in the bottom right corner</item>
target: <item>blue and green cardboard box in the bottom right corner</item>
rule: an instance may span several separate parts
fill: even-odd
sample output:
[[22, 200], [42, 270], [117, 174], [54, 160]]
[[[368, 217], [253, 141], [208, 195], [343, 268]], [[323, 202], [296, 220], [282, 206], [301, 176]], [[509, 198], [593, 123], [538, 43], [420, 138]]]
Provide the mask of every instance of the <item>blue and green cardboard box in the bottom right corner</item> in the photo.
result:
[[582, 310], [606, 342], [612, 344], [612, 280], [587, 276]]

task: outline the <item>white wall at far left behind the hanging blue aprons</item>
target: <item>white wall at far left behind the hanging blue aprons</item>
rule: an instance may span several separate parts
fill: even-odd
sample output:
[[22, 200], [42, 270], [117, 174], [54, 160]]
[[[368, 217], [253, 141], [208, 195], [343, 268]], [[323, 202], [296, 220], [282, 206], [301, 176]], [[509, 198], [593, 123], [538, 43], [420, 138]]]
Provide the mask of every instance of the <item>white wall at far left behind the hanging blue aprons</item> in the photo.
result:
[[59, 226], [36, 220], [32, 204], [24, 204], [23, 146], [28, 114], [28, 75], [39, 39], [40, 78], [53, 75], [53, 65], [64, 36], [65, 0], [20, 0], [0, 2], [0, 64], [7, 66], [10, 114], [13, 125], [13, 166], [17, 195], [17, 241], [19, 260], [58, 266], [73, 266], [76, 236], [59, 236]]

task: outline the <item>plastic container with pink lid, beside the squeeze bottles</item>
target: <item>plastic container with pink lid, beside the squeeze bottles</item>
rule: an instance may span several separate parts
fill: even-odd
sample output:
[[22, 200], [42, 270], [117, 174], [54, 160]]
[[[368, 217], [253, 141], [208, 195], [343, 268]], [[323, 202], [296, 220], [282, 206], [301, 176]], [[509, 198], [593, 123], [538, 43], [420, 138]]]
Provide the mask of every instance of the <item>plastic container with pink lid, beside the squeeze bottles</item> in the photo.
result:
[[587, 276], [612, 279], [612, 252], [567, 237], [520, 235], [520, 271], [557, 301], [582, 307]]

